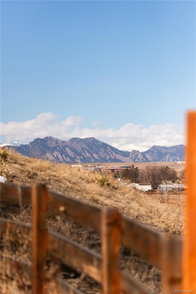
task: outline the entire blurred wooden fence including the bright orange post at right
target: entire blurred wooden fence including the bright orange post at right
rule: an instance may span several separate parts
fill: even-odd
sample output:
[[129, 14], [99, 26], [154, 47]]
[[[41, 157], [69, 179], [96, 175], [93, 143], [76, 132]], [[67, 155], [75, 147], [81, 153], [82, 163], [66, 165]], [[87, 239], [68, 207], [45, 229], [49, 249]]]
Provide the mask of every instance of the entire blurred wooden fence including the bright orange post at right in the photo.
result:
[[[47, 190], [44, 185], [23, 187], [1, 183], [1, 201], [32, 205], [32, 228], [1, 218], [1, 237], [9, 232], [9, 236], [17, 240], [19, 232], [32, 234], [32, 270], [26, 265], [25, 271], [32, 278], [33, 294], [44, 293], [44, 266], [47, 251], [63, 262], [71, 263], [101, 283], [103, 294], [150, 294], [149, 289], [129, 273], [120, 271], [118, 262], [120, 244], [162, 269], [163, 293], [176, 293], [178, 289], [196, 291], [196, 197], [192, 189], [196, 178], [195, 112], [190, 112], [188, 115], [187, 133], [188, 217], [184, 242], [181, 236], [168, 236], [130, 220], [120, 215], [118, 209], [99, 208]], [[47, 231], [46, 210], [100, 232], [102, 254], [96, 254], [66, 237]], [[6, 261], [13, 274], [16, 267], [23, 273], [23, 265], [20, 262], [5, 256], [2, 257], [2, 261]], [[56, 277], [55, 281], [61, 293], [81, 294], [60, 277]]]

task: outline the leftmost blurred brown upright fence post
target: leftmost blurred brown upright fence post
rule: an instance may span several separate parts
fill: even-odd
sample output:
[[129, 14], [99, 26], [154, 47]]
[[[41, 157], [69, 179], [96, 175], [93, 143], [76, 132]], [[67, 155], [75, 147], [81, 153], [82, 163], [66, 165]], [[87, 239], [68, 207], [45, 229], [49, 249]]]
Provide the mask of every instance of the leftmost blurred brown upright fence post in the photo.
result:
[[47, 190], [45, 185], [32, 187], [32, 294], [44, 294]]

